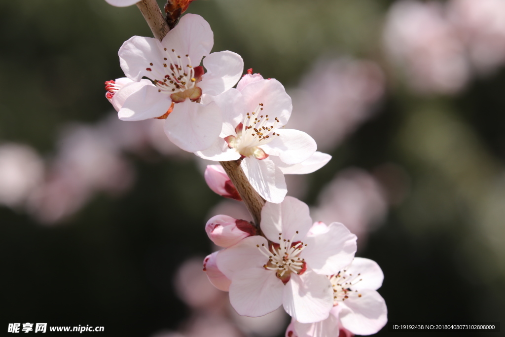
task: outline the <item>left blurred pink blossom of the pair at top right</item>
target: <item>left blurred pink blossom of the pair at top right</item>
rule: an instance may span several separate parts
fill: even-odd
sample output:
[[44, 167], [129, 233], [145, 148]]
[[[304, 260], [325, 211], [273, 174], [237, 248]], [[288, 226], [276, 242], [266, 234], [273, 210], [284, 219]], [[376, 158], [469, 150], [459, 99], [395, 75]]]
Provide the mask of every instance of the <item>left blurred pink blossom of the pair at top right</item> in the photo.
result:
[[384, 42], [391, 60], [415, 91], [452, 94], [469, 80], [465, 46], [438, 2], [394, 3], [386, 17]]

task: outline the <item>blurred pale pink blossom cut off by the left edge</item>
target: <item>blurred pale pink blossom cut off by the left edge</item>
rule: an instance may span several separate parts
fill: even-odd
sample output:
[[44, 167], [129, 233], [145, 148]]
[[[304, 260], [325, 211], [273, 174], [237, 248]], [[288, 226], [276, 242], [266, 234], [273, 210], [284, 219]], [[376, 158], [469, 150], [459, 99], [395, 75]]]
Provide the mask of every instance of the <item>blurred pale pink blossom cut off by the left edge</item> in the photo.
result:
[[44, 175], [44, 163], [32, 148], [0, 145], [0, 204], [20, 207]]

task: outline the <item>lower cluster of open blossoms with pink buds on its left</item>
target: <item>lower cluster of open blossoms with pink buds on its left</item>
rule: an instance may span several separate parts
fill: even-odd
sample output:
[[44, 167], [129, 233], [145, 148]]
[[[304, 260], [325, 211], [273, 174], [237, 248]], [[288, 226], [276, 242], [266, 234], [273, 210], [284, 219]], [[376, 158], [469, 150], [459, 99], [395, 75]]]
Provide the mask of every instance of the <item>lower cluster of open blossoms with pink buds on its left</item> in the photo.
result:
[[374, 261], [355, 257], [356, 235], [338, 222], [313, 223], [308, 206], [292, 197], [267, 202], [261, 215], [260, 230], [225, 215], [206, 225], [224, 249], [204, 260], [204, 270], [240, 315], [283, 306], [292, 317], [289, 337], [330, 337], [341, 329], [369, 335], [386, 324], [376, 292], [384, 276]]

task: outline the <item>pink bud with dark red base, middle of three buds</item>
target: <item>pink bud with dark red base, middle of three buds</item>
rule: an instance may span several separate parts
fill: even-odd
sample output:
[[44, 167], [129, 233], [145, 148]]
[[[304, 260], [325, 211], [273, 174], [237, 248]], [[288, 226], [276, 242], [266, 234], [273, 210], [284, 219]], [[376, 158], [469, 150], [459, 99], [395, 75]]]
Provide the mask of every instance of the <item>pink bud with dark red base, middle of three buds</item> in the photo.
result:
[[237, 220], [227, 215], [216, 215], [205, 225], [209, 238], [218, 246], [231, 247], [241, 239], [256, 235], [256, 227], [245, 220]]

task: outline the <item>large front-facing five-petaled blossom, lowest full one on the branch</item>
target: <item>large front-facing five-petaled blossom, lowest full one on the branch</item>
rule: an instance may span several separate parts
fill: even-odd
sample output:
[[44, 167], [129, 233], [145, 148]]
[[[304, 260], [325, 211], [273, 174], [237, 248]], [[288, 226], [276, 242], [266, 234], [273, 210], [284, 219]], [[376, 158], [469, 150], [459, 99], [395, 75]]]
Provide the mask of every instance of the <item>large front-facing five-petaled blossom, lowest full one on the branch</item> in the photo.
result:
[[251, 317], [283, 305], [300, 322], [326, 319], [333, 307], [327, 275], [352, 261], [356, 236], [336, 222], [310, 231], [309, 207], [292, 197], [281, 204], [267, 202], [261, 215], [266, 238], [249, 236], [217, 254], [219, 270], [231, 280], [231, 305]]

